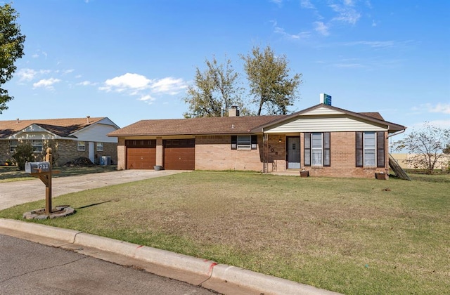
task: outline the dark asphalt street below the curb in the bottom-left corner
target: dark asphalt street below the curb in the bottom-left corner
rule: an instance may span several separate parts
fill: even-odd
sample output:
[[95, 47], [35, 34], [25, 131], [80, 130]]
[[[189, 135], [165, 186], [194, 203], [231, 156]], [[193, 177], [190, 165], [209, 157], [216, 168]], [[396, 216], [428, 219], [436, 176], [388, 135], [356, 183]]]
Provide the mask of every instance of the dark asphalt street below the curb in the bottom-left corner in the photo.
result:
[[0, 265], [0, 294], [217, 294], [7, 235], [0, 235]]

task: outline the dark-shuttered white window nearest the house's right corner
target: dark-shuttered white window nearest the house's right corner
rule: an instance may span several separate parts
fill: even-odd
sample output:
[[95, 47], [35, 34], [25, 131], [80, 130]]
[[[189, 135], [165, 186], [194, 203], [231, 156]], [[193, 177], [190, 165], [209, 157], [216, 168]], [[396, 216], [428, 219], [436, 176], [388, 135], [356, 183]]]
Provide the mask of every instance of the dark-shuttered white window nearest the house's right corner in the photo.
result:
[[356, 132], [356, 167], [385, 166], [384, 131]]

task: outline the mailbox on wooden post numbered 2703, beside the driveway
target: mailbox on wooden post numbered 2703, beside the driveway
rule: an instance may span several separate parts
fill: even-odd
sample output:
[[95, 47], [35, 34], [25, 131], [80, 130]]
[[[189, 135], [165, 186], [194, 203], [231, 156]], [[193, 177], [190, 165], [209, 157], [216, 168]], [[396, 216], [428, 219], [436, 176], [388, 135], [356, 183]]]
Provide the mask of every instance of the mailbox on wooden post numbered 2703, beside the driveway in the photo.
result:
[[[47, 148], [45, 162], [27, 162], [25, 163], [25, 172], [32, 176], [37, 176], [45, 184], [45, 214], [50, 216], [51, 206], [51, 148]], [[55, 171], [58, 173], [59, 171]]]

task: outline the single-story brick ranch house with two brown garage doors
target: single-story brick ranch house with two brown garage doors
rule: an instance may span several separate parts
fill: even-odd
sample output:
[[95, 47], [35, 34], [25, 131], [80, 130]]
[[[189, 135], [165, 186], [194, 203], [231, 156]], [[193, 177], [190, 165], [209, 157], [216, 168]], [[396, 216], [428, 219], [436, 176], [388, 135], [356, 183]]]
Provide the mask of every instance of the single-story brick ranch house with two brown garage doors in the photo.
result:
[[323, 103], [290, 115], [142, 120], [113, 131], [117, 169], [295, 171], [374, 177], [389, 169], [388, 137], [406, 127], [378, 112]]

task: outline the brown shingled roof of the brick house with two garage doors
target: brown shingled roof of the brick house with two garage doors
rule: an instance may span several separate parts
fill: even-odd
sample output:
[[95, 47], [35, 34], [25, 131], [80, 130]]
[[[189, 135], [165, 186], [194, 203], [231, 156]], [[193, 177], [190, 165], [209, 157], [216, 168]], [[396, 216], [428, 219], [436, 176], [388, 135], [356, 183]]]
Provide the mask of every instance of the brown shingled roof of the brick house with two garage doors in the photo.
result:
[[108, 133], [108, 136], [174, 136], [245, 134], [265, 132], [271, 126], [280, 126], [298, 118], [348, 117], [367, 124], [382, 126], [389, 132], [406, 129], [405, 126], [387, 122], [378, 112], [350, 112], [330, 105], [314, 105], [289, 115], [247, 116], [247, 117], [200, 117], [191, 119], [141, 120], [122, 129]]

